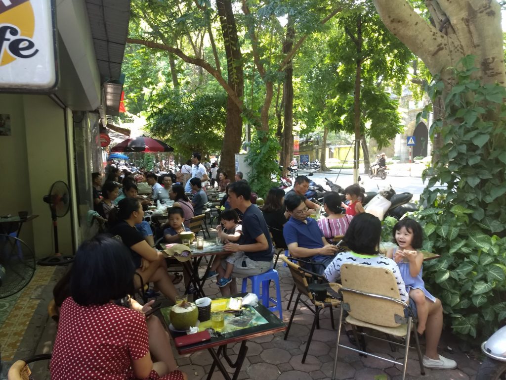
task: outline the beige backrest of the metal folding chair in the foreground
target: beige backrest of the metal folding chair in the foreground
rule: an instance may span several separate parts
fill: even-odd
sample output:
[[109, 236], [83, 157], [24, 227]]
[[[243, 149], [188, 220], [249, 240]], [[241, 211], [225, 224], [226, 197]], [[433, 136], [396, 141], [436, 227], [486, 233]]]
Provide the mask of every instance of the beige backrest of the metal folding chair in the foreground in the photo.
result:
[[389, 327], [406, 323], [405, 305], [395, 276], [388, 269], [344, 263], [341, 282], [343, 307], [353, 318]]

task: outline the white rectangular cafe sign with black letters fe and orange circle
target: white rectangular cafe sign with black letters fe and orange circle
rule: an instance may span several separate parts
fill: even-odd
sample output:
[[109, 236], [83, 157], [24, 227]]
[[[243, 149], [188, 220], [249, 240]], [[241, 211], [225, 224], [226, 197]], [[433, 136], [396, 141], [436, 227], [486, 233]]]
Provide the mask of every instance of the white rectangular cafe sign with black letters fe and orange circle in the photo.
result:
[[57, 85], [55, 4], [0, 0], [0, 91], [51, 92]]

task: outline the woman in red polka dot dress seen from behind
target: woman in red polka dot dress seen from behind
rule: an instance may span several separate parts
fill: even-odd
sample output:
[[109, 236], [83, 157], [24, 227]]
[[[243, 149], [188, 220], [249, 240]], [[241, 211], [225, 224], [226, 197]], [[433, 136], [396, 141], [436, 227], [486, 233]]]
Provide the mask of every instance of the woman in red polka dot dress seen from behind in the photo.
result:
[[146, 317], [113, 301], [132, 291], [134, 272], [130, 253], [119, 241], [102, 235], [79, 247], [72, 297], [60, 311], [52, 380], [187, 379], [163, 362], [153, 363]]

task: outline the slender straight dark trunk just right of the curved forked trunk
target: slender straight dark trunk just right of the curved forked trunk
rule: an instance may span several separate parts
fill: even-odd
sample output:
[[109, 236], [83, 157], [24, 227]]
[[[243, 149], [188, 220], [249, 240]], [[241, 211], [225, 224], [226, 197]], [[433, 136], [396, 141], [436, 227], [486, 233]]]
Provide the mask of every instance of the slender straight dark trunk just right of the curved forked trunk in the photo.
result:
[[[293, 20], [288, 16], [286, 37], [283, 44], [283, 54], [288, 54], [293, 48], [293, 37], [295, 28]], [[284, 69], [283, 104], [284, 104], [284, 128], [283, 128], [283, 167], [290, 165], [293, 157], [293, 66], [292, 60], [286, 64]]]

